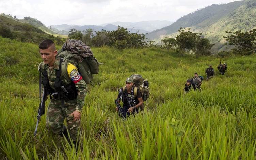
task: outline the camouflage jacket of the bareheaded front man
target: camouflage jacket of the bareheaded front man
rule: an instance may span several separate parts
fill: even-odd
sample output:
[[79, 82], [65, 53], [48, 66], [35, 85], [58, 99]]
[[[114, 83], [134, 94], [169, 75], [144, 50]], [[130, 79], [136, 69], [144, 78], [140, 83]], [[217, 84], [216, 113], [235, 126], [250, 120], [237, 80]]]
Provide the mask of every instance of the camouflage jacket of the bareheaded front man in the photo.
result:
[[[64, 61], [62, 63], [64, 63]], [[38, 70], [41, 68], [41, 81], [43, 82], [43, 79], [44, 79], [43, 71], [44, 71], [44, 69], [46, 69], [50, 87], [54, 90], [55, 90], [55, 88], [54, 88], [55, 82], [54, 81], [56, 78], [56, 71], [59, 70], [59, 65], [60, 65], [60, 58], [58, 56], [56, 56], [56, 59], [55, 59], [52, 69], [50, 69], [48, 65], [43, 65], [43, 62], [40, 63], [38, 66]], [[78, 71], [77, 71], [77, 73], [78, 73]], [[61, 83], [64, 86], [69, 84], [69, 81], [65, 79], [65, 77], [63, 76], [62, 73], [61, 73]], [[64, 102], [64, 103], [66, 103], [66, 105], [75, 105], [76, 104], [76, 109], [81, 110], [85, 103], [84, 99], [85, 99], [85, 96], [87, 93], [87, 85], [86, 85], [85, 81], [83, 79], [81, 79], [80, 81], [75, 83], [75, 86], [77, 89], [77, 99], [70, 100], [70, 101]], [[42, 85], [42, 88], [43, 87], [44, 86]], [[43, 91], [43, 89], [42, 89], [42, 91]]]

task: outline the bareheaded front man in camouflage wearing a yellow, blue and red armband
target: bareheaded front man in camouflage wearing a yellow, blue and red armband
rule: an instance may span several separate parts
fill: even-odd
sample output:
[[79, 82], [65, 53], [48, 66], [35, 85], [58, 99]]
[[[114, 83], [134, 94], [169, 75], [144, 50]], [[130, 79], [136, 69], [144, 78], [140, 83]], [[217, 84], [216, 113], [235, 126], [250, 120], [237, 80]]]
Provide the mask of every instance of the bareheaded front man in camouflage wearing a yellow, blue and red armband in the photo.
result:
[[[43, 62], [39, 64], [40, 86], [50, 95], [50, 103], [46, 115], [46, 127], [55, 135], [63, 135], [76, 146], [80, 137], [81, 112], [87, 85], [80, 76], [76, 66], [67, 63], [67, 72], [71, 83], [65, 79], [61, 72], [64, 60], [59, 58], [55, 44], [50, 39], [45, 39], [39, 44], [39, 53]], [[70, 81], [70, 80], [69, 80]], [[67, 121], [67, 128], [63, 124]], [[68, 131], [67, 131], [68, 130]], [[70, 139], [68, 138], [68, 132]]]

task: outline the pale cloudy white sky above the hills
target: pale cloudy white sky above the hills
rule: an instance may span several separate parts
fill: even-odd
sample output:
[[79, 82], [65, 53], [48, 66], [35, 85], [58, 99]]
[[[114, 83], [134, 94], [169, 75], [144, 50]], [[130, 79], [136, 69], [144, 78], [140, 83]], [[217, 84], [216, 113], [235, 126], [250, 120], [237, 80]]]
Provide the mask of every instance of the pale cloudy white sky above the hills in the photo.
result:
[[236, 0], [0, 0], [0, 13], [33, 17], [46, 26], [122, 21], [176, 21], [212, 4]]

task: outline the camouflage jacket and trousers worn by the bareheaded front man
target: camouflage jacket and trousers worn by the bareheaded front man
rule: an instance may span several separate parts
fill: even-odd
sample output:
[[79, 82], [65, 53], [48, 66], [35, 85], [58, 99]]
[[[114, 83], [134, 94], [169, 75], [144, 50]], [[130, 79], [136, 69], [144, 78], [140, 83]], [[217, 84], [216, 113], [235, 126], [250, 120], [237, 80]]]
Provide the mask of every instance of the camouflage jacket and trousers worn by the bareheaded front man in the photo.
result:
[[[64, 62], [62, 62], [64, 63]], [[60, 65], [60, 58], [56, 56], [53, 67], [50, 69], [48, 65], [39, 65], [41, 67], [41, 71], [46, 69], [47, 76], [49, 79], [49, 85], [52, 89], [54, 89], [56, 71], [58, 71]], [[77, 71], [78, 73], [78, 71]], [[44, 76], [41, 72], [41, 80], [43, 81]], [[61, 83], [63, 86], [69, 84], [69, 81], [66, 80], [61, 73]], [[71, 79], [72, 80], [72, 79]], [[73, 81], [74, 82], [74, 81]], [[75, 83], [75, 82], [74, 82]], [[73, 141], [76, 141], [77, 136], [80, 137], [80, 133], [78, 133], [78, 129], [80, 126], [80, 120], [73, 122], [73, 116], [70, 116], [72, 112], [77, 110], [82, 110], [84, 105], [84, 99], [87, 93], [87, 85], [83, 79], [80, 79], [75, 83], [75, 87], [77, 89], [77, 98], [74, 100], [64, 100], [62, 105], [62, 100], [51, 98], [50, 104], [48, 106], [47, 117], [46, 117], [46, 127], [48, 130], [52, 131], [56, 135], [60, 135], [64, 130], [65, 126], [63, 125], [64, 119], [67, 120], [67, 128], [70, 134], [70, 138]], [[55, 90], [55, 89], [54, 89]]]

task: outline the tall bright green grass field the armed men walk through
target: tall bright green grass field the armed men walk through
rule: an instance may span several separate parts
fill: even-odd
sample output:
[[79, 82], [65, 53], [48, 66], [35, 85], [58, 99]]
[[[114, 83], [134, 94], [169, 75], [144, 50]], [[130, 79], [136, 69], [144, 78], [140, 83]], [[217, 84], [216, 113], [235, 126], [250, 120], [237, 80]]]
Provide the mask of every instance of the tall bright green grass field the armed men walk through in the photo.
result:
[[[216, 56], [196, 59], [161, 49], [92, 48], [104, 65], [94, 76], [82, 112], [82, 150], [46, 131], [33, 136], [39, 105], [34, 44], [0, 38], [0, 159], [256, 159], [256, 56], [228, 57], [224, 76], [183, 93], [194, 72], [206, 77]], [[122, 121], [114, 99], [133, 73], [148, 78], [144, 112]], [[49, 100], [47, 101], [47, 104]]]

